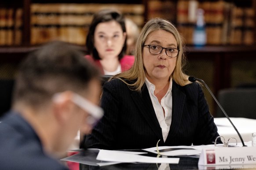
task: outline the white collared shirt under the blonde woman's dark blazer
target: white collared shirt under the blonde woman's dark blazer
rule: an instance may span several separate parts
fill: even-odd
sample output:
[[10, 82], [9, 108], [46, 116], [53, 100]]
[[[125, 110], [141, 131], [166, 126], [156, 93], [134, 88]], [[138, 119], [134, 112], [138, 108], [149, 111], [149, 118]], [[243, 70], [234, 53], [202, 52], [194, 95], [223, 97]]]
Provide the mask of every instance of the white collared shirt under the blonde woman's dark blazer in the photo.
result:
[[[172, 122], [172, 78], [170, 79], [167, 93], [161, 99], [161, 103], [158, 102], [157, 97], [154, 95], [155, 85], [153, 85], [147, 78], [146, 87], [149, 91], [150, 99], [152, 101], [157, 120], [160, 124], [160, 127], [162, 128], [162, 134], [165, 142]], [[165, 115], [163, 109], [165, 110]]]

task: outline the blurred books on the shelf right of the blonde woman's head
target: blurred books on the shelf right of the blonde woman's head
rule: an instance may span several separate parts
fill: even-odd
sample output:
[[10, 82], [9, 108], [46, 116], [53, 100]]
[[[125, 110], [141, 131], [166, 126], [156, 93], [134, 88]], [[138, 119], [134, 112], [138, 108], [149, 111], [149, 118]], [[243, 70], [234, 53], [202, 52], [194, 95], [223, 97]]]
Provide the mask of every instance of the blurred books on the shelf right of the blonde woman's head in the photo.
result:
[[252, 45], [255, 43], [255, 11], [252, 7], [238, 7], [232, 2], [223, 0], [178, 0], [177, 28], [187, 44], [193, 44], [195, 7], [205, 11], [208, 45]]

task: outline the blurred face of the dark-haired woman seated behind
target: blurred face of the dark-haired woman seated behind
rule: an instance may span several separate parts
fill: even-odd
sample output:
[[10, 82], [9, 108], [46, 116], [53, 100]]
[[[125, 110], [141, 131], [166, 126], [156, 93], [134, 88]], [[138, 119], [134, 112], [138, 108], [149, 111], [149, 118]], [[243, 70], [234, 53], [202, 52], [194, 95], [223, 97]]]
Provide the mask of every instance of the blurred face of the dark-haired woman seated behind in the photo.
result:
[[126, 33], [117, 21], [99, 23], [94, 32], [94, 46], [101, 59], [115, 58], [121, 53]]

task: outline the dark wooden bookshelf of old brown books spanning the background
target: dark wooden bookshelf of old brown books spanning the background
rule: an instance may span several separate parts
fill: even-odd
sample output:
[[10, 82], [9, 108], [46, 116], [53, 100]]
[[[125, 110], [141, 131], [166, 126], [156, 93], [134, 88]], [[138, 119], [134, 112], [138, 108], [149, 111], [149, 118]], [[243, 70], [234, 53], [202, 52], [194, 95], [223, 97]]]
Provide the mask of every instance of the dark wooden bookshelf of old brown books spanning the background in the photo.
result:
[[[122, 11], [126, 17], [132, 18], [140, 27], [143, 26], [144, 21], [147, 21], [150, 18], [166, 18], [176, 24], [184, 39], [186, 39], [186, 44], [192, 45], [192, 35], [195, 21], [189, 17], [189, 13], [191, 13], [190, 11], [193, 11], [190, 7], [190, 1], [193, 0], [132, 0], [129, 1], [129, 3], [118, 0], [110, 0], [106, 2], [102, 0], [10, 0], [8, 2], [0, 2], [0, 15], [1, 11], [3, 11], [2, 9], [4, 8], [7, 8], [8, 10], [11, 9], [13, 12], [13, 14], [11, 14], [9, 17], [13, 18], [13, 21], [11, 21], [13, 23], [12, 25], [8, 26], [8, 22], [4, 21], [8, 19], [8, 14], [4, 14], [6, 18], [3, 16], [0, 17], [0, 23], [6, 22], [4, 25], [0, 24], [0, 35], [1, 32], [3, 32], [2, 30], [7, 29], [8, 27], [15, 29], [15, 23], [17, 23], [19, 18], [21, 20], [19, 21], [21, 22], [21, 25], [18, 26], [21, 29], [19, 43], [1, 43], [1, 39], [3, 38], [0, 38], [0, 46], [31, 46], [41, 44], [47, 42], [51, 38], [55, 39], [54, 36], [50, 37], [50, 35], [47, 34], [51, 34], [52, 36], [55, 27], [63, 27], [63, 25], [70, 26], [70, 28], [83, 28], [83, 26], [88, 27], [92, 14], [97, 10], [99, 11], [99, 9], [106, 7], [115, 7], [116, 9]], [[198, 7], [205, 10], [205, 22], [208, 37], [207, 45], [222, 46], [255, 44], [255, 0], [194, 1], [197, 1]], [[134, 6], [130, 4], [133, 4]], [[73, 6], [73, 10], [71, 6]], [[132, 8], [136, 9], [132, 10]], [[22, 10], [22, 14], [20, 14], [21, 16], [17, 18], [15, 14], [17, 14], [17, 10], [19, 9]], [[77, 12], [79, 10], [80, 12]], [[139, 12], [136, 13], [136, 11]], [[7, 12], [8, 11], [5, 11], [5, 13]], [[66, 18], [63, 18], [63, 16]], [[5, 19], [3, 20], [3, 18]], [[80, 18], [80, 20], [77, 20], [78, 23], [81, 23], [80, 25], [74, 21], [76, 18]], [[85, 19], [83, 20], [83, 18]], [[40, 28], [41, 30], [51, 30], [51, 33], [46, 31], [40, 32]], [[35, 30], [39, 31], [37, 32]], [[79, 31], [79, 29], [74, 29], [72, 32], [83, 31], [84, 34], [82, 35], [86, 36], [86, 30]], [[64, 34], [68, 35], [69, 33], [66, 31]], [[42, 37], [38, 37], [36, 40], [34, 40], [33, 37], [38, 35], [42, 35]], [[47, 39], [47, 36], [49, 36], [49, 39]], [[45, 40], [40, 42], [40, 39]], [[71, 41], [67, 38], [64, 38], [63, 40]], [[84, 45], [84, 40], [81, 40], [80, 42], [79, 40], [77, 41], [78, 44]], [[70, 43], [76, 42], [74, 41]]]

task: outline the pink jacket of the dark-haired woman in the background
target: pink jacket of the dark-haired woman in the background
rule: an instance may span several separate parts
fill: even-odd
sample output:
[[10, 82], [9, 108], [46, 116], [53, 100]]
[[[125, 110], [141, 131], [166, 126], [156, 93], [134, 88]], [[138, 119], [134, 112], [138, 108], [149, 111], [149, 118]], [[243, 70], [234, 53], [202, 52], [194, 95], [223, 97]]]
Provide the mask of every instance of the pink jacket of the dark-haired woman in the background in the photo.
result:
[[[95, 63], [95, 65], [96, 65], [97, 67], [99, 67], [101, 73], [104, 74], [102, 65], [101, 65], [101, 63], [99, 62], [99, 60], [94, 60], [90, 55], [86, 55], [85, 58], [88, 59], [88, 60], [90, 60], [91, 62]], [[129, 69], [132, 67], [133, 63], [134, 63], [134, 56], [125, 55], [125, 56], [120, 60], [122, 72], [129, 70]]]

